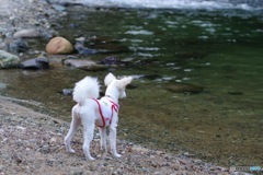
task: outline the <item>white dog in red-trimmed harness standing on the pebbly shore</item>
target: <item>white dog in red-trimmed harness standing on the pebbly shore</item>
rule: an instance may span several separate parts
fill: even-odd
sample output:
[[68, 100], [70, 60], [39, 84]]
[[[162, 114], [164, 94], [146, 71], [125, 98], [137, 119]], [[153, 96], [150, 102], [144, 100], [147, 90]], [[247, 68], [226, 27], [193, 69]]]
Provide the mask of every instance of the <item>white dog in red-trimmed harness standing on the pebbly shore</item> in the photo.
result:
[[101, 149], [106, 152], [106, 127], [110, 128], [111, 152], [115, 158], [122, 155], [116, 151], [116, 127], [118, 122], [118, 98], [126, 97], [125, 88], [132, 82], [132, 77], [117, 80], [108, 73], [104, 83], [107, 86], [105, 96], [98, 100], [100, 85], [96, 78], [85, 77], [76, 83], [73, 89], [73, 100], [78, 103], [72, 108], [72, 120], [68, 135], [65, 137], [66, 150], [75, 153], [70, 147], [78, 126], [81, 124], [83, 130], [83, 151], [88, 160], [94, 160], [90, 154], [90, 142], [93, 140], [95, 125], [100, 128]]

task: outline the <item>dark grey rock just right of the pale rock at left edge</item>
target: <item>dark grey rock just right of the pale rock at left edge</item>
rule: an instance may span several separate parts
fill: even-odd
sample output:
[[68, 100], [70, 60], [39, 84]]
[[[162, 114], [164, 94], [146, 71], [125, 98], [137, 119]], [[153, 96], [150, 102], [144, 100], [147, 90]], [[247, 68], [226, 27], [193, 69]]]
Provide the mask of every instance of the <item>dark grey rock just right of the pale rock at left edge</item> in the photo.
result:
[[49, 60], [46, 57], [37, 57], [34, 59], [25, 60], [20, 66], [22, 69], [39, 70], [48, 69]]

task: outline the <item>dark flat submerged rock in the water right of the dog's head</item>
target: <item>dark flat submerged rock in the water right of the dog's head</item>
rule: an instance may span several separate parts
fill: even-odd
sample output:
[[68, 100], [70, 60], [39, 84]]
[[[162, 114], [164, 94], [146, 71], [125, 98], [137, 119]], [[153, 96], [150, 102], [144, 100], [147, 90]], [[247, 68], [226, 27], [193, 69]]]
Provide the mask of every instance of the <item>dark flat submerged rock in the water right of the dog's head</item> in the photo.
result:
[[165, 85], [165, 89], [173, 93], [201, 93], [204, 88], [188, 83], [173, 83]]

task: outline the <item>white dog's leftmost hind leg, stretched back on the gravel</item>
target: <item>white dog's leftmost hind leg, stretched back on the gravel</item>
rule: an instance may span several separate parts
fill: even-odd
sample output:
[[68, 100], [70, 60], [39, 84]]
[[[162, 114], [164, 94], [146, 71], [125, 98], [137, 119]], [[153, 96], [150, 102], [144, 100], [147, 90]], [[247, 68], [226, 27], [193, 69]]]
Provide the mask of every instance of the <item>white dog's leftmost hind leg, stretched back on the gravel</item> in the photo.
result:
[[67, 152], [70, 152], [70, 153], [75, 153], [75, 150], [71, 149], [70, 141], [72, 140], [72, 138], [73, 138], [73, 136], [75, 136], [75, 133], [78, 129], [78, 126], [80, 125], [80, 121], [81, 121], [80, 117], [76, 113], [76, 109], [77, 109], [77, 106], [75, 106], [72, 108], [72, 120], [71, 120], [71, 124], [70, 124], [69, 131], [64, 139], [66, 150], [67, 150]]

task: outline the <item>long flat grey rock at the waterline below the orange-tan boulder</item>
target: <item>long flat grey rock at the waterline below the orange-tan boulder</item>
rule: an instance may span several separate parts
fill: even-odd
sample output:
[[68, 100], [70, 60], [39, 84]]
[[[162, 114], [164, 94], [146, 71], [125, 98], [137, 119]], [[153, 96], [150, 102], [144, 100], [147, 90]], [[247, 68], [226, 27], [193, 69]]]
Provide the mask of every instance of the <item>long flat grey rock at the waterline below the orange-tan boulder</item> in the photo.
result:
[[64, 63], [68, 67], [75, 67], [89, 71], [105, 70], [107, 67], [104, 65], [99, 65], [92, 60], [87, 59], [67, 59]]

